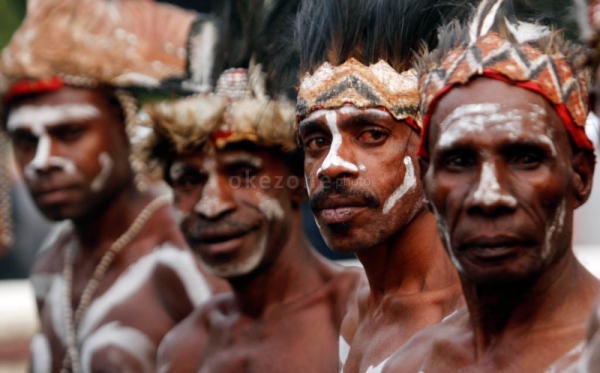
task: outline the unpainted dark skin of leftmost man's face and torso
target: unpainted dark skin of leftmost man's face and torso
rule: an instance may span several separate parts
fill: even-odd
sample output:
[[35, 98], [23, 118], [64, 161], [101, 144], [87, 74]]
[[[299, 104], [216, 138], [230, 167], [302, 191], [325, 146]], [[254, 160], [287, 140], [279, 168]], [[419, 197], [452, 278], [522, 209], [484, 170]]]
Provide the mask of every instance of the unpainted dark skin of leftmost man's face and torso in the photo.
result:
[[[34, 202], [42, 213], [52, 220], [68, 219], [73, 227], [63, 231], [40, 255], [32, 271], [34, 283], [38, 285], [36, 292], [42, 321], [41, 333], [49, 342], [53, 372], [60, 370], [65, 356], [63, 342], [56, 332], [64, 328], [60, 326], [64, 323], [64, 315], [57, 313], [55, 308], [62, 305], [63, 298], [51, 295], [56, 293], [53, 289], [58, 285], [48, 282], [48, 279], [62, 273], [66, 248], [75, 240], [79, 242], [73, 264], [71, 306], [75, 309], [102, 255], [143, 208], [158, 196], [153, 190], [140, 192], [133, 183], [128, 162], [129, 143], [122, 115], [119, 108], [108, 99], [106, 90], [65, 87], [56, 92], [29, 96], [11, 106], [9, 118], [23, 108], [34, 112], [40, 108], [56, 110], [65, 105], [96, 108], [97, 115], [88, 118], [62, 115], [55, 120], [47, 127], [50, 144], [48, 162], [40, 165], [35, 175], [29, 174], [25, 178]], [[42, 118], [49, 117], [46, 115]], [[35, 116], [28, 118], [33, 121]], [[15, 158], [22, 172], [38, 155], [42, 141], [33, 129], [34, 125], [23, 120], [20, 126], [10, 129]], [[113, 167], [101, 188], [94, 188], [93, 180], [97, 179], [102, 168], [100, 154], [108, 154]], [[51, 159], [71, 162], [73, 170], [68, 171], [60, 164], [52, 163]], [[140, 233], [116, 256], [102, 278], [94, 299], [110, 291], [126, 270], [166, 243], [182, 253], [188, 250], [169, 206], [157, 210]], [[192, 262], [192, 266], [195, 266], [195, 261]], [[154, 345], [153, 349], [150, 348], [150, 356], [140, 359], [108, 343], [91, 356], [91, 371], [144, 371], [144, 366], [154, 366], [156, 346], [178, 321], [193, 310], [194, 305], [178, 274], [168, 266], [157, 265], [154, 268], [142, 278], [131, 296], [110, 304], [82, 342], [85, 346], [86, 338], [93, 337], [94, 331], [117, 322], [120, 327], [131, 328], [139, 335], [144, 335]], [[217, 289], [218, 284], [215, 280], [213, 290]], [[47, 289], [44, 290], [45, 287]], [[177, 302], [173, 301], [174, 294]], [[56, 319], [53, 318], [54, 314], [58, 314]], [[33, 359], [35, 362], [35, 354]]]

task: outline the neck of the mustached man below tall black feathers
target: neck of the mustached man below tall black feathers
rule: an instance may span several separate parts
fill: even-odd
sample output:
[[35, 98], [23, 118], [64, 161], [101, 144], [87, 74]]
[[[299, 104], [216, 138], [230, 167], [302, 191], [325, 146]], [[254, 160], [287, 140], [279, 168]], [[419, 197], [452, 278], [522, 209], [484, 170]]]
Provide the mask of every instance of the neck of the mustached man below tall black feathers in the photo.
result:
[[435, 217], [423, 210], [386, 242], [362, 250], [371, 296], [436, 291], [458, 284], [458, 275], [440, 241]]

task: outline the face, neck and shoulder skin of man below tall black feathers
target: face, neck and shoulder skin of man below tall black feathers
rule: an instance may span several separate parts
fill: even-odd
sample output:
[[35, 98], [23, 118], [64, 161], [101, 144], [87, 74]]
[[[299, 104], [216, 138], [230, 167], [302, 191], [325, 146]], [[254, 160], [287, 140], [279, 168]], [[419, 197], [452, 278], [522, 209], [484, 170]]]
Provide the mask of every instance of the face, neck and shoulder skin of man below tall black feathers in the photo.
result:
[[[299, 135], [321, 233], [333, 250], [355, 253], [367, 274], [341, 333], [351, 346], [343, 371], [366, 372], [463, 304], [458, 276], [420, 182], [411, 183], [418, 135], [408, 125], [345, 106], [305, 118]], [[406, 193], [393, 198], [403, 184]]]

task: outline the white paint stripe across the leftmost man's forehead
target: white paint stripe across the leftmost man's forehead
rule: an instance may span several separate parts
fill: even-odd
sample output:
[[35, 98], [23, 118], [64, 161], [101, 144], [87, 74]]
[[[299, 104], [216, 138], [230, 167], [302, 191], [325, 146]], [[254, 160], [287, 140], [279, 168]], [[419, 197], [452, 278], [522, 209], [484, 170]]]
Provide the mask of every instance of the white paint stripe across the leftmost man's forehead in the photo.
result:
[[100, 116], [100, 110], [89, 104], [24, 105], [11, 111], [7, 128], [14, 131], [19, 127], [48, 127], [64, 121], [92, 119]]

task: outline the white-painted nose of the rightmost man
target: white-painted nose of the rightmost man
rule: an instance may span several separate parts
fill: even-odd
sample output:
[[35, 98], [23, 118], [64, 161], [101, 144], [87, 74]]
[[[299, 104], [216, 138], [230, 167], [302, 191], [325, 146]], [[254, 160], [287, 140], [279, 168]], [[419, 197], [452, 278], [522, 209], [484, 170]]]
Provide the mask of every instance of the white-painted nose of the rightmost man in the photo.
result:
[[515, 210], [517, 200], [503, 185], [499, 176], [494, 163], [483, 164], [479, 172], [479, 181], [473, 186], [468, 197], [469, 212], [497, 216]]

